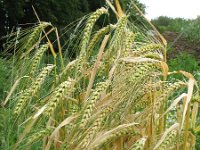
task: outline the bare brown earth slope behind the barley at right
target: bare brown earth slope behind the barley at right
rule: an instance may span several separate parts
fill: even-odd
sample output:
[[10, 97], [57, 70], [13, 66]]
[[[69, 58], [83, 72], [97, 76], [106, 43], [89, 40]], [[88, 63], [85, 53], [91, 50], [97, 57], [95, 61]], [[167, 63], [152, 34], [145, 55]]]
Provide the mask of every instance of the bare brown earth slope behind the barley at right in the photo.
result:
[[169, 45], [169, 50], [167, 52], [168, 59], [175, 58], [178, 54], [187, 52], [193, 54], [197, 60], [200, 60], [200, 42], [189, 41], [181, 36], [180, 33], [170, 31], [163, 33], [163, 36]]

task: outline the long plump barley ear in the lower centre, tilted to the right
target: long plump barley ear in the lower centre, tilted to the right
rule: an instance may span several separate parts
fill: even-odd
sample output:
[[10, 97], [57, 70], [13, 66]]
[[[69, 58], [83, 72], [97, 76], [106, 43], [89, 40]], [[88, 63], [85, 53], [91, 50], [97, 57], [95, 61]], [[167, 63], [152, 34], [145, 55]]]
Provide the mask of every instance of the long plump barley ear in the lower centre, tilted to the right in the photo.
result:
[[86, 107], [84, 108], [82, 121], [80, 124], [81, 128], [86, 125], [88, 119], [91, 117], [91, 113], [95, 107], [96, 101], [100, 98], [102, 92], [105, 91], [109, 85], [110, 85], [109, 81], [101, 82], [97, 84], [95, 91], [92, 93], [92, 95], [89, 97], [89, 99], [86, 102]]

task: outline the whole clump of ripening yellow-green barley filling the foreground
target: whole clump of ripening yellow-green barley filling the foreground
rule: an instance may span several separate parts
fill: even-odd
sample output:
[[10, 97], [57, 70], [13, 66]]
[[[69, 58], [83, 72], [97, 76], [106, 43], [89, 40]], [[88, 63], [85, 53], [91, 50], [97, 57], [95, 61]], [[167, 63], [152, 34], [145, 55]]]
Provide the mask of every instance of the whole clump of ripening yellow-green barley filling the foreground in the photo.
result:
[[[5, 53], [15, 51], [9, 58], [14, 69], [0, 114], [1, 149], [195, 149], [195, 78], [170, 72], [162, 36], [150, 37], [118, 3], [115, 10], [107, 2], [75, 25], [75, 38], [64, 42], [74, 45], [62, 46], [62, 35], [45, 22], [11, 41]], [[95, 31], [98, 19], [113, 12], [116, 23]], [[74, 49], [76, 58], [63, 55]], [[174, 74], [184, 80], [171, 80]]]

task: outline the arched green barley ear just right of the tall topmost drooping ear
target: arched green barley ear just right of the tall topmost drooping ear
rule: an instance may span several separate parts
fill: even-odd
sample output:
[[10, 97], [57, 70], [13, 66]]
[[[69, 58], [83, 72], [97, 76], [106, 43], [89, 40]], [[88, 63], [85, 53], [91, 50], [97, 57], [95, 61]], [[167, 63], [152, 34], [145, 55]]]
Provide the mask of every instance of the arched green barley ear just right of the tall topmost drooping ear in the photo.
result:
[[97, 31], [97, 33], [93, 36], [92, 40], [89, 43], [89, 46], [87, 48], [88, 53], [91, 53], [91, 51], [95, 47], [95, 44], [103, 37], [103, 35], [107, 34], [111, 30], [114, 30], [115, 28], [116, 28], [116, 25], [110, 24], [100, 29], [99, 31]]

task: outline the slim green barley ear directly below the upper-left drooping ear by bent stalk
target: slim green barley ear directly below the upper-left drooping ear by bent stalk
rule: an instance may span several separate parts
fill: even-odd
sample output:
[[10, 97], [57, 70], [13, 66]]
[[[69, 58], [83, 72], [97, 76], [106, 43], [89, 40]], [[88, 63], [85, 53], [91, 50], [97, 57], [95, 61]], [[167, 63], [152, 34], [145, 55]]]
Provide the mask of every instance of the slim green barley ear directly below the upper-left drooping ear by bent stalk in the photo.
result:
[[44, 54], [44, 52], [49, 48], [48, 44], [42, 45], [37, 52], [35, 53], [35, 55], [33, 56], [33, 60], [32, 60], [32, 65], [31, 65], [31, 75], [34, 75], [37, 66], [40, 64], [41, 58]]

